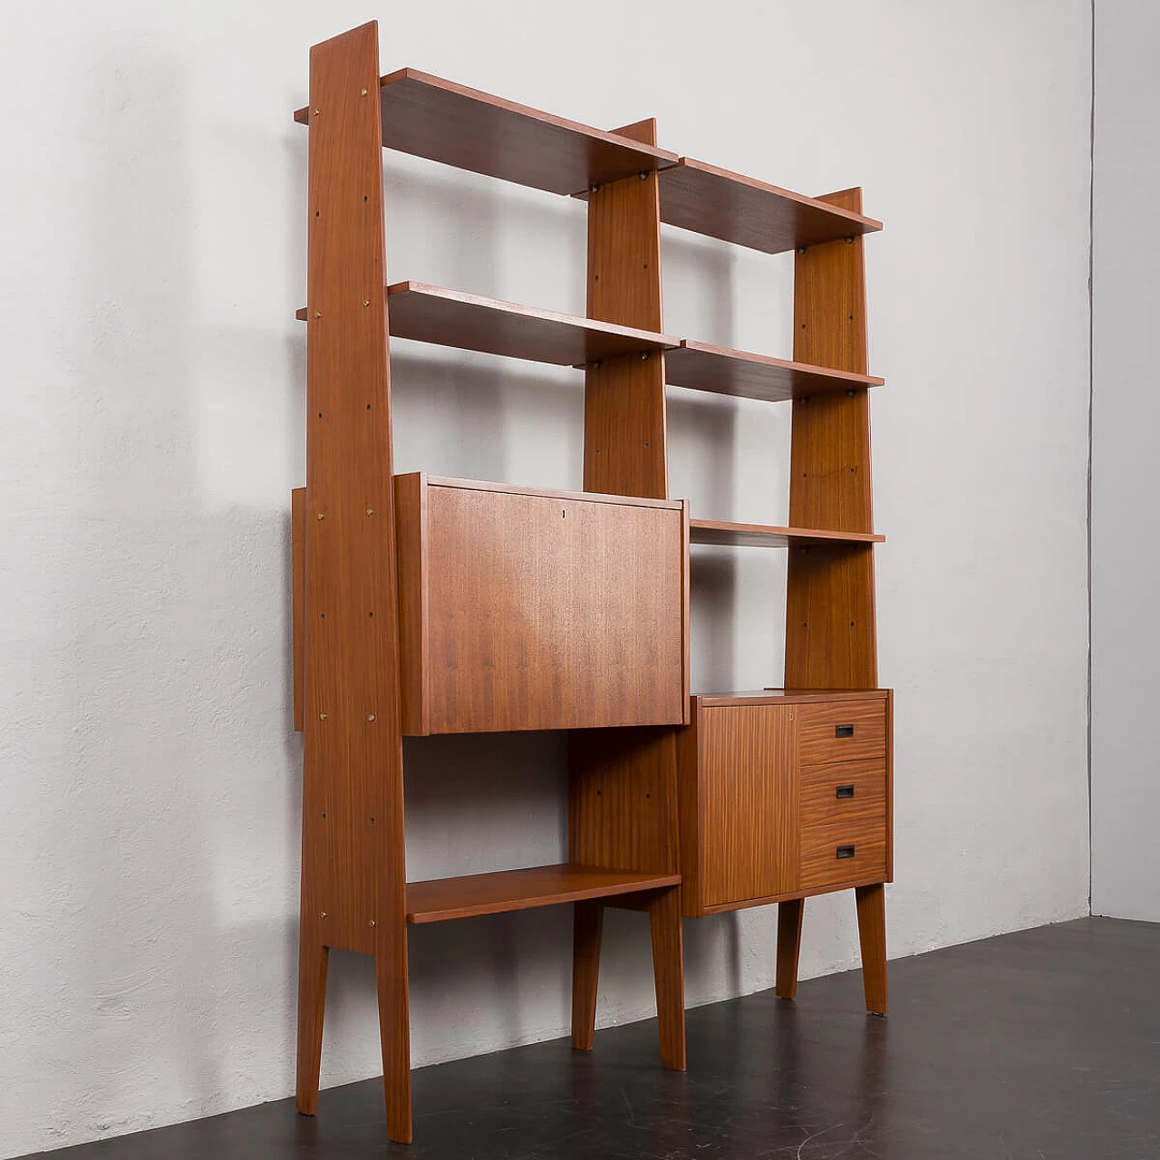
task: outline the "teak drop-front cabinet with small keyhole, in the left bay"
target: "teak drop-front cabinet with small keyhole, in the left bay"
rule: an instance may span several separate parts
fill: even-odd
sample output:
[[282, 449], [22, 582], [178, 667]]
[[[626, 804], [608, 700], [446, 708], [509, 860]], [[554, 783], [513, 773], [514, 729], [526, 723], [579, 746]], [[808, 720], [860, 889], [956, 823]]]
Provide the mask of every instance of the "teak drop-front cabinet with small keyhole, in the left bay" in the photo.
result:
[[[422, 522], [400, 520], [426, 538], [400, 545], [422, 573], [400, 608], [422, 609], [427, 636], [407, 733], [681, 724], [684, 505], [435, 480], [422, 492]], [[414, 508], [413, 487], [397, 494]], [[405, 675], [412, 641], [408, 625]]]

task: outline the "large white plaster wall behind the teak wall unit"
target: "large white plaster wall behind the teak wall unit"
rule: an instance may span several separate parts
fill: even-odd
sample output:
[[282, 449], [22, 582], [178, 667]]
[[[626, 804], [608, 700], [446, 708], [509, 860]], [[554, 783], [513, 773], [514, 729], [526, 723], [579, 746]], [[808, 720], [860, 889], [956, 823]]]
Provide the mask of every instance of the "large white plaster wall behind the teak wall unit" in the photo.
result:
[[[6, 3], [0, 70], [0, 1155], [292, 1088], [307, 46], [338, 0]], [[383, 6], [404, 64], [821, 193], [862, 183], [880, 669], [906, 955], [1087, 908], [1087, 0]], [[386, 19], [390, 22], [386, 23]], [[614, 29], [612, 36], [604, 30]], [[582, 312], [583, 210], [386, 154], [392, 278]], [[667, 329], [790, 350], [769, 259], [666, 233]], [[396, 349], [398, 470], [579, 486], [571, 371]], [[673, 493], [786, 510], [784, 408], [672, 399]], [[784, 560], [698, 553], [695, 683], [780, 677]], [[414, 877], [564, 848], [559, 739], [408, 746]], [[803, 971], [856, 963], [807, 908]], [[690, 1003], [769, 986], [771, 909], [687, 927]], [[412, 938], [414, 1063], [559, 1036], [565, 911]], [[647, 1016], [614, 913], [600, 1022]], [[334, 956], [324, 1082], [378, 1068]], [[561, 1050], [565, 1050], [561, 1046]]]

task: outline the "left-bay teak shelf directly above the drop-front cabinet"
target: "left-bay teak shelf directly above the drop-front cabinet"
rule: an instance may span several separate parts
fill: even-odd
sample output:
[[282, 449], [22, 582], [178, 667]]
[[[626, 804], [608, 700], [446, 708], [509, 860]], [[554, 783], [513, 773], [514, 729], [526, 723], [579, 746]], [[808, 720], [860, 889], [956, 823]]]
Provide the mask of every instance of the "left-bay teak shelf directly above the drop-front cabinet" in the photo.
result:
[[639, 360], [681, 341], [647, 327], [574, 318], [423, 282], [397, 282], [386, 288], [386, 300], [392, 338], [557, 367], [629, 356]]

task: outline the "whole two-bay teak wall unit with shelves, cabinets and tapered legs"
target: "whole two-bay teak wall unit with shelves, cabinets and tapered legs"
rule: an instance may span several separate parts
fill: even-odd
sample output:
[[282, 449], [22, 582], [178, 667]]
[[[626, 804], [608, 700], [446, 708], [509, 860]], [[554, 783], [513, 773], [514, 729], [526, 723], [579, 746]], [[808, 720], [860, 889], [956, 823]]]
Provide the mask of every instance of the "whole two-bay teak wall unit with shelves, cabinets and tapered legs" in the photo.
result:
[[[802, 197], [401, 70], [364, 24], [311, 50], [306, 486], [292, 496], [304, 739], [298, 1109], [318, 1104], [327, 955], [375, 956], [387, 1130], [409, 1140], [407, 927], [574, 904], [590, 1049], [603, 908], [646, 913], [661, 1061], [686, 1060], [681, 918], [854, 887], [886, 1009], [892, 699], [877, 689], [858, 190]], [[387, 284], [383, 147], [587, 200], [587, 317]], [[793, 360], [668, 335], [661, 223], [795, 249]], [[392, 474], [390, 336], [577, 365], [583, 492]], [[666, 384], [792, 400], [791, 527], [668, 498]], [[689, 696], [690, 544], [789, 549], [785, 689]], [[403, 737], [568, 730], [568, 862], [406, 880]]]

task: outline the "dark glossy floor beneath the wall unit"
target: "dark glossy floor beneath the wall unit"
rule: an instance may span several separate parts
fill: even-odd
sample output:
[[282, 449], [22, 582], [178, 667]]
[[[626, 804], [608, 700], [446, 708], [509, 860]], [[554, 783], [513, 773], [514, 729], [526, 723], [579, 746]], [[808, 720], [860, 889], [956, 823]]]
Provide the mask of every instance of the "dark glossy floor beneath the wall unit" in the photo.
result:
[[652, 1021], [414, 1073], [415, 1143], [382, 1086], [51, 1153], [53, 1160], [1119, 1160], [1160, 1158], [1160, 925], [1083, 919], [690, 1010], [689, 1071]]

